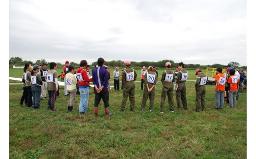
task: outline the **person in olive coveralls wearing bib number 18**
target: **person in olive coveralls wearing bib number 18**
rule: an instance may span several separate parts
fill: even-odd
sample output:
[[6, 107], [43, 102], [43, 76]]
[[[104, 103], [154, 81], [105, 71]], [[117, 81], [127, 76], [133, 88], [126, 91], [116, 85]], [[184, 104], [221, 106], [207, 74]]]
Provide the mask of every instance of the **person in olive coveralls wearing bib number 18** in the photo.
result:
[[202, 112], [205, 112], [205, 85], [207, 83], [207, 76], [201, 71], [201, 69], [195, 70], [195, 75], [197, 75], [195, 81], [195, 112], [199, 112], [201, 108]]

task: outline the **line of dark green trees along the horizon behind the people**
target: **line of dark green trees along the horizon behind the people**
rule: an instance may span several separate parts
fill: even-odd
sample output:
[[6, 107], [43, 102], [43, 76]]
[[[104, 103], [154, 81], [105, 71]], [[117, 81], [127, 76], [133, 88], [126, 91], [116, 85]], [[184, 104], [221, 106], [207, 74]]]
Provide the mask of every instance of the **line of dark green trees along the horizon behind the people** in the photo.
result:
[[[131, 61], [131, 65], [132, 67], [134, 67], [135, 69], [140, 69], [143, 66], [156, 66], [157, 68], [165, 68], [165, 63], [170, 62], [172, 64], [172, 68], [178, 67], [178, 63], [174, 63], [174, 61], [172, 60], [161, 60], [158, 62], [148, 62], [148, 61], [143, 61], [143, 62], [134, 62]], [[41, 60], [37, 60], [35, 63], [33, 63], [32, 61], [23, 61], [22, 58], [20, 57], [12, 57], [9, 59], [9, 67], [11, 68], [13, 65], [16, 66], [22, 66], [25, 65], [26, 63], [29, 64], [42, 64], [42, 63], [46, 63], [48, 64], [48, 62], [46, 62], [44, 59]], [[64, 66], [64, 64], [61, 63], [57, 63], [58, 65]], [[77, 67], [79, 64], [74, 63], [74, 62], [70, 62], [69, 64]], [[240, 66], [239, 63], [237, 62], [230, 62], [230, 65], [236, 67], [236, 68], [242, 68], [242, 69], [247, 69], [247, 66]], [[90, 65], [90, 67], [92, 68], [94, 65], [97, 65], [97, 62], [93, 62], [92, 65]], [[109, 68], [115, 68], [116, 66], [118, 67], [125, 67], [125, 63], [122, 60], [112, 60], [112, 61], [105, 61], [105, 65], [107, 65]], [[224, 68], [225, 65], [224, 64], [212, 64], [212, 65], [200, 65], [200, 64], [185, 64], [185, 68], [186, 69], [196, 69], [196, 68], [200, 68], [200, 69], [206, 69], [207, 67], [213, 67], [213, 68], [217, 68], [217, 67], [222, 67]]]

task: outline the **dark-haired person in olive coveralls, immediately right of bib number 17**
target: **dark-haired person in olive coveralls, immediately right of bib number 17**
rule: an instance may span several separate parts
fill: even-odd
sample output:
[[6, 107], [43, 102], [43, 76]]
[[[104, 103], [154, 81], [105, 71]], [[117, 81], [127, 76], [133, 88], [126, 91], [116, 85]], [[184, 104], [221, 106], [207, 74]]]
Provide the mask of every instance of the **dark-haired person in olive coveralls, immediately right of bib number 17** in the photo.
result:
[[175, 85], [176, 100], [178, 109], [181, 110], [181, 101], [183, 109], [188, 110], [187, 97], [186, 97], [186, 81], [188, 79], [188, 71], [185, 69], [185, 64], [182, 62], [178, 64], [179, 72]]

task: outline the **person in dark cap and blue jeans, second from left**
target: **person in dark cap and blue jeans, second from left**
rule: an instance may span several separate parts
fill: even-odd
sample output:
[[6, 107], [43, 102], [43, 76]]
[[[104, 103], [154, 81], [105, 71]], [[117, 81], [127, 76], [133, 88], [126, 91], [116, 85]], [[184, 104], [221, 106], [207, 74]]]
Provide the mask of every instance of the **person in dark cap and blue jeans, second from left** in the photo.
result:
[[32, 84], [32, 95], [33, 95], [33, 106], [34, 109], [40, 109], [40, 95], [41, 85], [43, 84], [41, 75], [39, 73], [40, 67], [35, 64], [31, 71], [31, 84]]

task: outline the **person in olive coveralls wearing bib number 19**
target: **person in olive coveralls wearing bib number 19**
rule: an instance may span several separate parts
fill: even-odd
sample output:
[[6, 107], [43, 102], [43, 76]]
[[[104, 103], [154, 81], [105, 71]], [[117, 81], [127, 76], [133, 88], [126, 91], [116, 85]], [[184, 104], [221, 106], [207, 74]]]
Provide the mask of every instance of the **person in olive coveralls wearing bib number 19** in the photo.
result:
[[124, 82], [124, 91], [123, 91], [123, 100], [121, 105], [121, 111], [126, 110], [126, 102], [129, 96], [130, 100], [130, 110], [134, 111], [135, 108], [135, 85], [134, 81], [136, 81], [137, 73], [136, 71], [130, 67], [130, 61], [125, 61], [126, 70], [124, 70], [122, 81]]

